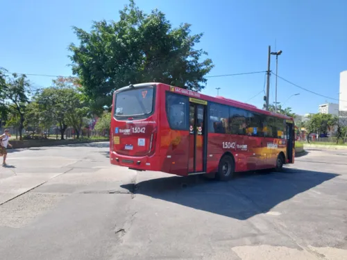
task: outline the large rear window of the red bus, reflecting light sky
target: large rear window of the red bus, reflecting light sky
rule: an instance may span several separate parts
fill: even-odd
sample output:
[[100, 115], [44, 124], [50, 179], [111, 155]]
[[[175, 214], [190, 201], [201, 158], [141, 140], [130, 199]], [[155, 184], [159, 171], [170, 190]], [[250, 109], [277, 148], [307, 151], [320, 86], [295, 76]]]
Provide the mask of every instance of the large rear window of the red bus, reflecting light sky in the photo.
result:
[[130, 89], [116, 94], [115, 116], [139, 116], [153, 110], [153, 87]]

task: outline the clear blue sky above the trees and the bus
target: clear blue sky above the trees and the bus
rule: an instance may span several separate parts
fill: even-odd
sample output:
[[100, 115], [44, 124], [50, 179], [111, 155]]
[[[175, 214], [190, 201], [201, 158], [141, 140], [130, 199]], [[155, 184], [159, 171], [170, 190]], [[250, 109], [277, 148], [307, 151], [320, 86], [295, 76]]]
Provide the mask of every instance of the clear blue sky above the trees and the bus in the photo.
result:
[[[67, 46], [76, 42], [71, 26], [89, 30], [92, 21], [118, 20], [126, 0], [2, 1], [0, 9], [0, 67], [18, 73], [71, 75]], [[192, 24], [204, 33], [199, 48], [208, 51], [215, 67], [210, 76], [265, 71], [267, 49], [282, 50], [278, 75], [297, 85], [339, 98], [339, 73], [347, 70], [347, 1], [341, 0], [137, 0], [149, 12], [158, 8], [174, 26]], [[276, 58], [271, 58], [276, 72]], [[52, 78], [30, 76], [46, 87]], [[264, 73], [209, 78], [203, 93], [262, 107]], [[317, 112], [328, 98], [315, 96], [278, 79], [278, 101], [304, 114]], [[271, 77], [270, 103], [275, 101]]]

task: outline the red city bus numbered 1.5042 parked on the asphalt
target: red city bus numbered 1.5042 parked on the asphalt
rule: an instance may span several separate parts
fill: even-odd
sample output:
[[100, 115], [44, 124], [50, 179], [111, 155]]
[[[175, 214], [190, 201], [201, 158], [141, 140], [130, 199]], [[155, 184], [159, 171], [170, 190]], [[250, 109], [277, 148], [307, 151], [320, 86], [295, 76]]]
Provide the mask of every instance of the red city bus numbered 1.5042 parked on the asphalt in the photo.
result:
[[294, 163], [294, 120], [223, 97], [162, 83], [115, 91], [110, 163], [137, 171], [208, 174]]

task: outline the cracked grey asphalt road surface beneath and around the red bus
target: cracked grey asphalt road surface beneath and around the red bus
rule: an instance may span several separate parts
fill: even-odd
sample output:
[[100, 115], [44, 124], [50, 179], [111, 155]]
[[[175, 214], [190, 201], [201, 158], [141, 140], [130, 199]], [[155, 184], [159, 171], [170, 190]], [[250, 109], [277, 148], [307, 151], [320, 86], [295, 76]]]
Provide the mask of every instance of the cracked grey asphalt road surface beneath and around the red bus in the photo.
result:
[[230, 182], [111, 166], [108, 143], [8, 164], [0, 259], [347, 259], [347, 150]]

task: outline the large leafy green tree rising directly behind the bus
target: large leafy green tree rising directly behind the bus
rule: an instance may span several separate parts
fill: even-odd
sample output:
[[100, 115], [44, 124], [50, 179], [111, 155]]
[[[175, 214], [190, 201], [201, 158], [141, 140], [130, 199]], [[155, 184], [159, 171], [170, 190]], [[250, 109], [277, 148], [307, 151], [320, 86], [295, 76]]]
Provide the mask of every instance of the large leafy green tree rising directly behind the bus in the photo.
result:
[[79, 46], [69, 45], [72, 70], [81, 79], [94, 110], [110, 107], [115, 89], [129, 83], [160, 82], [195, 91], [204, 88], [213, 67], [202, 49], [202, 33], [190, 24], [172, 28], [164, 13], [144, 13], [130, 0], [115, 22], [94, 22], [90, 33], [74, 27]]

